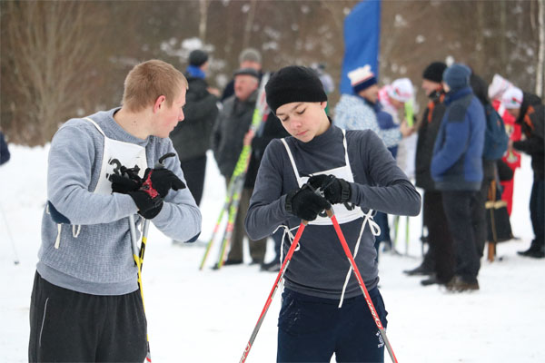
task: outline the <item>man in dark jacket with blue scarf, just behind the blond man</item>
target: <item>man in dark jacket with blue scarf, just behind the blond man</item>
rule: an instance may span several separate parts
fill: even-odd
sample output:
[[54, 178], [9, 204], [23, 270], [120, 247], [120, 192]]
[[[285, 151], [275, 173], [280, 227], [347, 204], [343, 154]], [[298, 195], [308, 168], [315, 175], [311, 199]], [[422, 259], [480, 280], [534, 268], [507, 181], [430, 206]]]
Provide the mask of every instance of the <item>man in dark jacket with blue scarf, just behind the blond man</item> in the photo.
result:
[[189, 83], [183, 107], [185, 120], [178, 123], [170, 133], [187, 187], [197, 205], [203, 197], [206, 151], [210, 147], [210, 135], [218, 114], [216, 103], [219, 91], [204, 81], [207, 68], [208, 54], [202, 50], [194, 50], [189, 54], [189, 65], [185, 73]]

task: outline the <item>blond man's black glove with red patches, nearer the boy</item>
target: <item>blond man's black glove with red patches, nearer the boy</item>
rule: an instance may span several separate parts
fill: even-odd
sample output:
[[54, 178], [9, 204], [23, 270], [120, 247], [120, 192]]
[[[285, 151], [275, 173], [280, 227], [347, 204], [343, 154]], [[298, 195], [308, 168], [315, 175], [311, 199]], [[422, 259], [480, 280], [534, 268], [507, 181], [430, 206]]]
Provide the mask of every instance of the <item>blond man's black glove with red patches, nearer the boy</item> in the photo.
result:
[[138, 213], [151, 220], [163, 208], [163, 199], [168, 191], [178, 191], [185, 184], [168, 169], [146, 169], [142, 185], [137, 191], [128, 191], [138, 207]]

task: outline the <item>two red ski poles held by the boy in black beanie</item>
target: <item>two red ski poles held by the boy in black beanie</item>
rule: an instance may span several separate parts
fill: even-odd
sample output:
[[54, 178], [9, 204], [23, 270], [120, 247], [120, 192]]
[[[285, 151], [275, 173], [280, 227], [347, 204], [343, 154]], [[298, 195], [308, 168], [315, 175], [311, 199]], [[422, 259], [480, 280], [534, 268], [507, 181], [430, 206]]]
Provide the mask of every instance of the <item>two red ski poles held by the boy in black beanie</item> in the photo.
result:
[[[362, 289], [363, 297], [365, 298], [365, 301], [367, 302], [367, 306], [369, 307], [369, 310], [371, 311], [372, 319], [374, 320], [377, 328], [379, 329], [379, 332], [381, 334], [381, 338], [384, 341], [384, 345], [386, 346], [386, 349], [388, 350], [388, 353], [390, 354], [391, 361], [393, 363], [397, 363], [397, 358], [395, 357], [395, 354], [393, 353], [393, 350], [390, 345], [390, 340], [388, 340], [388, 337], [386, 336], [386, 329], [382, 326], [381, 319], [379, 318], [379, 315], [377, 313], [377, 310], [374, 307], [374, 304], [372, 303], [371, 296], [369, 295], [369, 292], [367, 291], [367, 288], [365, 287], [365, 283], [362, 279], [362, 274], [360, 273], [360, 270], [358, 270], [358, 266], [356, 265], [356, 262], [352, 256], [352, 252], [350, 248], [348, 247], [348, 243], [344, 239], [344, 234], [341, 231], [341, 226], [339, 225], [339, 221], [337, 221], [337, 217], [333, 214], [333, 210], [327, 210], [328, 217], [332, 220], [333, 227], [335, 231], [337, 232], [337, 237], [339, 238], [339, 241], [342, 245], [342, 250], [344, 250], [344, 253], [346, 254], [347, 259], [350, 261], [350, 265], [352, 267], [352, 272], [354, 273], [356, 280], [358, 280], [358, 284], [360, 285], [360, 289]], [[257, 319], [257, 324], [255, 324], [255, 328], [253, 329], [252, 335], [250, 336], [250, 340], [248, 341], [248, 344], [246, 344], [246, 348], [244, 348], [243, 351], [243, 357], [239, 361], [239, 363], [244, 363], [246, 361], [246, 358], [248, 358], [248, 354], [250, 353], [250, 349], [253, 347], [253, 341], [255, 340], [255, 337], [257, 337], [257, 333], [259, 332], [259, 329], [261, 328], [263, 324], [263, 319], [265, 319], [265, 314], [267, 313], [267, 310], [271, 306], [272, 298], [274, 297], [274, 293], [280, 286], [280, 281], [283, 278], [283, 275], [285, 271], [288, 268], [288, 265], [290, 264], [290, 261], [292, 260], [293, 252], [297, 248], [297, 245], [299, 244], [299, 240], [302, 236], [302, 231], [304, 231], [307, 221], [302, 221], [299, 225], [299, 229], [297, 230], [297, 233], [295, 234], [295, 238], [292, 241], [292, 246], [290, 246], [290, 250], [288, 250], [288, 253], [286, 254], [286, 257], [284, 258], [282, 262], [282, 267], [280, 268], [280, 272], [278, 272], [278, 276], [276, 277], [276, 280], [274, 281], [274, 285], [272, 286], [271, 293], [269, 294], [269, 297], [267, 298], [265, 302], [265, 306], [263, 307], [262, 313], [259, 316], [259, 319]]]

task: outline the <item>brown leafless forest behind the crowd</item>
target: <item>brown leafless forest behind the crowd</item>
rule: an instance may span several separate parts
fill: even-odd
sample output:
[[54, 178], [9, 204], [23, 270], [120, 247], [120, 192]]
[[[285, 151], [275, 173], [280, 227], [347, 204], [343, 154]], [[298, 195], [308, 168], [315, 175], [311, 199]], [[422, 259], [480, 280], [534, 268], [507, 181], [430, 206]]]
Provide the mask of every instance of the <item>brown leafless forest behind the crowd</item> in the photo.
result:
[[[195, 48], [211, 54], [208, 81], [219, 88], [249, 46], [263, 54], [264, 70], [327, 64], [335, 104], [343, 21], [357, 3], [3, 0], [0, 126], [9, 142], [43, 145], [69, 118], [118, 105], [134, 64], [158, 58], [184, 71]], [[409, 77], [419, 87], [427, 64], [455, 61], [542, 96], [544, 8], [545, 0], [383, 0], [380, 83]]]

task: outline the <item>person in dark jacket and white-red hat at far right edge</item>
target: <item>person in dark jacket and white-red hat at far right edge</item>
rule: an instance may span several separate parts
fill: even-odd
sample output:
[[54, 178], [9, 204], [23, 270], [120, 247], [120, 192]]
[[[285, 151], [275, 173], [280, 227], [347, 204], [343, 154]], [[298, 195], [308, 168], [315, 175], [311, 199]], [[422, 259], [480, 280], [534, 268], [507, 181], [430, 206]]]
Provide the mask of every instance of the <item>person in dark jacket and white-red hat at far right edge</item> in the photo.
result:
[[545, 220], [544, 204], [544, 163], [545, 147], [543, 145], [543, 118], [545, 108], [540, 97], [531, 93], [523, 93], [516, 87], [511, 87], [501, 99], [505, 102], [507, 112], [516, 118], [515, 123], [520, 124], [522, 133], [526, 136], [518, 142], [510, 141], [510, 148], [525, 152], [531, 156], [531, 169], [534, 173], [534, 180], [530, 194], [530, 219], [535, 239], [531, 241], [530, 249], [520, 251], [521, 256], [528, 256], [537, 259], [545, 257], [544, 250], [544, 225]]

